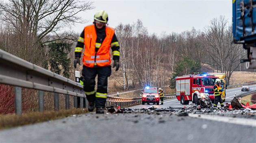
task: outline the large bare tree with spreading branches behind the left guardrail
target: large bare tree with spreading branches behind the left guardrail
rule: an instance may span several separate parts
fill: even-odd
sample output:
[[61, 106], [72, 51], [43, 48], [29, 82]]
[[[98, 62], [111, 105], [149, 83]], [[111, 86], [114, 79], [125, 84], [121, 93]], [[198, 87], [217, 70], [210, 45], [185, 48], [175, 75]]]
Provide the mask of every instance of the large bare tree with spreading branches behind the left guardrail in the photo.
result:
[[[7, 35], [5, 50], [39, 66], [47, 59], [47, 43], [77, 40], [65, 27], [84, 23], [77, 13], [93, 8], [80, 0], [8, 0], [0, 3], [0, 20]], [[11, 41], [11, 42], [9, 42]], [[66, 41], [65, 41], [66, 42]], [[15, 48], [13, 48], [15, 47]]]

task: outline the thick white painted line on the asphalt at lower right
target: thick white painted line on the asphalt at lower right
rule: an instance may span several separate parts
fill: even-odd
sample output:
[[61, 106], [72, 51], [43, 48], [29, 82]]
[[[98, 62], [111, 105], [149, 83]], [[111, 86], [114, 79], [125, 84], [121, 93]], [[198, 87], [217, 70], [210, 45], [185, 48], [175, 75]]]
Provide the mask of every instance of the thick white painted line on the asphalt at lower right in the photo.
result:
[[190, 117], [193, 118], [201, 118], [206, 120], [213, 120], [218, 122], [226, 122], [232, 124], [239, 124], [243, 126], [253, 126], [256, 127], [256, 120], [254, 119], [246, 119], [246, 118], [233, 118], [233, 117], [223, 117], [223, 116], [216, 116], [216, 115], [203, 115], [203, 114], [191, 114], [189, 113]]

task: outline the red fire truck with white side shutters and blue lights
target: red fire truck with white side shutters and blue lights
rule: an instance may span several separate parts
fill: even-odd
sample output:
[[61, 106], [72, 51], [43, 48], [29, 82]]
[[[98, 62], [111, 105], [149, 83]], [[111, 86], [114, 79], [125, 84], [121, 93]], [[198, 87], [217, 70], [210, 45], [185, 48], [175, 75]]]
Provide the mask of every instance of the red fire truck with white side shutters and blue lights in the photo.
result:
[[201, 97], [209, 96], [213, 103], [213, 86], [217, 78], [217, 76], [206, 74], [177, 76], [176, 98], [183, 105], [189, 104], [189, 101], [199, 105]]

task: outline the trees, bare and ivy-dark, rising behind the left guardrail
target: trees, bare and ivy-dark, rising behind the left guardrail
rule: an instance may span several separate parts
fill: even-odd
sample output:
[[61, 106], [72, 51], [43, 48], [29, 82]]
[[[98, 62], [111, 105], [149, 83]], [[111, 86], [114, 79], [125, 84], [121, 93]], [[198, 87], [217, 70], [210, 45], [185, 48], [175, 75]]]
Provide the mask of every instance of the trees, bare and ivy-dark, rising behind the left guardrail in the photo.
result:
[[64, 29], [87, 22], [77, 13], [93, 8], [80, 0], [1, 2], [0, 49], [69, 78], [78, 34]]

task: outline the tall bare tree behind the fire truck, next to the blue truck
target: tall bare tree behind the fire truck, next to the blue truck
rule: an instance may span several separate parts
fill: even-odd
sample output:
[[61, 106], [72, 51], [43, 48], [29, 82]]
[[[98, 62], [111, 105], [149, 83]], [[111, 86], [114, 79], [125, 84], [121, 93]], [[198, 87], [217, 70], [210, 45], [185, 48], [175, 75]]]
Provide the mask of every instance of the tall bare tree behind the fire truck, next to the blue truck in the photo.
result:
[[232, 27], [228, 25], [225, 17], [220, 16], [211, 21], [210, 26], [205, 30], [208, 51], [212, 63], [217, 71], [226, 72], [227, 83], [229, 84], [232, 72], [239, 66], [239, 60], [244, 57], [241, 45], [232, 42]]

